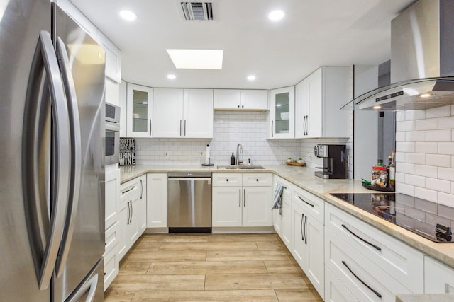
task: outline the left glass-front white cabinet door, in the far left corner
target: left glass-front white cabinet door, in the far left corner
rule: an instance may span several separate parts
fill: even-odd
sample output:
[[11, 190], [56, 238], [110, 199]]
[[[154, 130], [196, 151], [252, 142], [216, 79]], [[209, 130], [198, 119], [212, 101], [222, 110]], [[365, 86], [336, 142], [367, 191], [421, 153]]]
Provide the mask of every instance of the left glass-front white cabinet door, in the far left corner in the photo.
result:
[[128, 83], [128, 137], [153, 137], [153, 88]]

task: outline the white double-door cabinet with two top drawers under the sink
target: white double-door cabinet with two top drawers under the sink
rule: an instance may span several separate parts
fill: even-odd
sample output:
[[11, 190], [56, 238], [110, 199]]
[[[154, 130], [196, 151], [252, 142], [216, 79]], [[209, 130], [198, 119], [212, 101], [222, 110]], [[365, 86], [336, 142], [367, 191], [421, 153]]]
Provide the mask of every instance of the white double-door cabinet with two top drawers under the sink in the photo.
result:
[[212, 190], [214, 227], [272, 225], [271, 174], [214, 173]]

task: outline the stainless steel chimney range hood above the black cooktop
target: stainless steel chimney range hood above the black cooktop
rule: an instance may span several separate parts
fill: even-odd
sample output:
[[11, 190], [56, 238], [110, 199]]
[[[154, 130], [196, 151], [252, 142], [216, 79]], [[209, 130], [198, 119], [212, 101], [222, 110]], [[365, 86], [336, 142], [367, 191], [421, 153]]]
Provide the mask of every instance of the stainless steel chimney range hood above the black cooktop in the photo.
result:
[[344, 106], [423, 110], [454, 104], [454, 1], [419, 0], [391, 23], [391, 85]]

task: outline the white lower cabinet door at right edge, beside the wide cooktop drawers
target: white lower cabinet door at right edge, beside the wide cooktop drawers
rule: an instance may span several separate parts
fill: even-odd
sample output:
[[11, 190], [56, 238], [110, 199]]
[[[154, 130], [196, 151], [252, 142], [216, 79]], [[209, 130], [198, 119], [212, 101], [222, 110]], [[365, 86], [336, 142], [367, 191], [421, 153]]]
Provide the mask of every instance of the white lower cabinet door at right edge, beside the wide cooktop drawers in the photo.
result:
[[424, 257], [424, 294], [453, 294], [454, 269]]

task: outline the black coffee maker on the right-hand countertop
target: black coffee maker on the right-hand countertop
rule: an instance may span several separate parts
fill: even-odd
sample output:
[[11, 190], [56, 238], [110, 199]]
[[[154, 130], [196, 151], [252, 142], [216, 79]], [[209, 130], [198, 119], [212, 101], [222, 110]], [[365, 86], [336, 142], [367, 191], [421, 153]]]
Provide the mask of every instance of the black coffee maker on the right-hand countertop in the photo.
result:
[[314, 154], [323, 158], [323, 171], [316, 171], [319, 178], [344, 179], [348, 178], [346, 146], [345, 145], [317, 145]]

